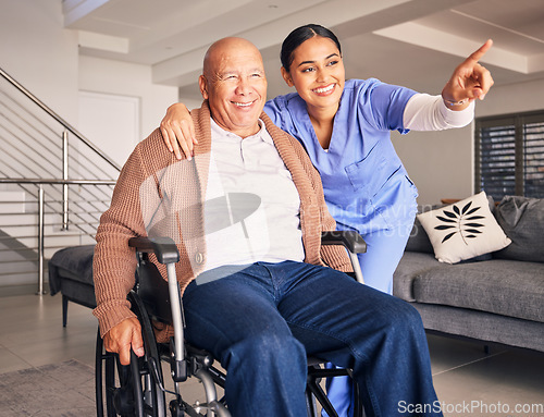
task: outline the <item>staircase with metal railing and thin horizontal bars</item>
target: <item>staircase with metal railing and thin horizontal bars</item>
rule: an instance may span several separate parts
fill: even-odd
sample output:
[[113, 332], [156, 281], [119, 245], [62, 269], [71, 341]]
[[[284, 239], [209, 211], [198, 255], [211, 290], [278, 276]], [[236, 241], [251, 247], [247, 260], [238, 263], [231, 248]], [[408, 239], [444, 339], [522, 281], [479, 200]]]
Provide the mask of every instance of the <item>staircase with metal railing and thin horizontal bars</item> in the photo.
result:
[[94, 243], [120, 167], [0, 69], [0, 293], [36, 285], [60, 248]]

